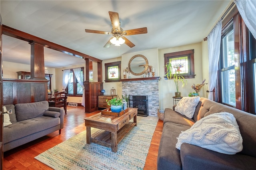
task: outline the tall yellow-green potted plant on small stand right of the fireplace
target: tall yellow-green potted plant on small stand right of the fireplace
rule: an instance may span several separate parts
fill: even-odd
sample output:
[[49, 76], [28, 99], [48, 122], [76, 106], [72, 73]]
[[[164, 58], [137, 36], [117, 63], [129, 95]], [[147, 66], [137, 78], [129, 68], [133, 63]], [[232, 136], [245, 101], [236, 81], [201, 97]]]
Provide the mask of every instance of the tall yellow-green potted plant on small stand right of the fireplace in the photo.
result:
[[179, 84], [182, 83], [182, 87], [184, 87], [185, 82], [187, 82], [185, 80], [185, 78], [180, 74], [180, 71], [175, 70], [175, 72], [173, 72], [173, 67], [172, 64], [170, 62], [166, 63], [165, 65], [166, 67], [166, 74], [164, 76], [167, 77], [167, 79], [173, 79], [175, 86], [176, 86], [176, 92], [175, 92], [175, 97], [180, 97], [180, 92], [179, 92]]

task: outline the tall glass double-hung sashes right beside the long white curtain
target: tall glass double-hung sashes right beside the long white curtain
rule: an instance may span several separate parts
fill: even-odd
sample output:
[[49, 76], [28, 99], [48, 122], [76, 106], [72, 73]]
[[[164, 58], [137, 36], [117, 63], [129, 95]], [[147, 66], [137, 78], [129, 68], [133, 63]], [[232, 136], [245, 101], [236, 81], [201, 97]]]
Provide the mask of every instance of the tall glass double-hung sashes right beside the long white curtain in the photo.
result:
[[233, 25], [222, 34], [220, 53], [220, 83], [222, 103], [236, 106], [234, 29]]

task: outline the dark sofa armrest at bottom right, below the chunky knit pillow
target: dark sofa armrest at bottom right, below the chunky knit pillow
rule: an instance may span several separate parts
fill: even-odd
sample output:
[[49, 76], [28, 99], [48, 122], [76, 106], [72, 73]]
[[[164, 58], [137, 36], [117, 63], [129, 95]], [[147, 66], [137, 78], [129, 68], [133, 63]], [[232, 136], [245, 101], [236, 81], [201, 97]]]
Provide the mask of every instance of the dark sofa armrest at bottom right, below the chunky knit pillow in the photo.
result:
[[192, 144], [182, 143], [180, 160], [183, 170], [254, 169], [256, 158], [242, 154], [222, 154]]

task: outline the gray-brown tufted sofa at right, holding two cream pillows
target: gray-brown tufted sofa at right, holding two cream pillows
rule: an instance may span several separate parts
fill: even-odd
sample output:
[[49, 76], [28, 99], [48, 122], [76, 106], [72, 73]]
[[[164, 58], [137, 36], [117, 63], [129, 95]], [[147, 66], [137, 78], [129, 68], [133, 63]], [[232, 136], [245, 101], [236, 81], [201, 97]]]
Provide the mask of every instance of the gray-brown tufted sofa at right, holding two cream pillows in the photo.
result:
[[[157, 158], [158, 170], [255, 169], [256, 115], [202, 97], [192, 119], [173, 110], [166, 108], [164, 111], [164, 127]], [[181, 131], [189, 129], [203, 117], [220, 112], [232, 113], [236, 118], [243, 139], [241, 152], [222, 154], [187, 143], [182, 143], [180, 150], [175, 147]]]

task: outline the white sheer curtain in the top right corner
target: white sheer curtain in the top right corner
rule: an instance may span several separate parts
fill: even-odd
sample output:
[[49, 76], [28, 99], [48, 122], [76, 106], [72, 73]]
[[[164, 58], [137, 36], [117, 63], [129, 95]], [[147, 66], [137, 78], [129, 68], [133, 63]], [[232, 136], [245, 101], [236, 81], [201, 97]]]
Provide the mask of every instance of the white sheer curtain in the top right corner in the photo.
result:
[[245, 25], [256, 38], [256, 0], [234, 0]]

